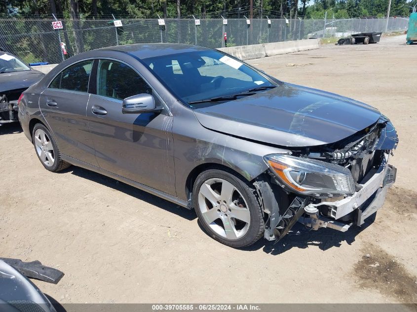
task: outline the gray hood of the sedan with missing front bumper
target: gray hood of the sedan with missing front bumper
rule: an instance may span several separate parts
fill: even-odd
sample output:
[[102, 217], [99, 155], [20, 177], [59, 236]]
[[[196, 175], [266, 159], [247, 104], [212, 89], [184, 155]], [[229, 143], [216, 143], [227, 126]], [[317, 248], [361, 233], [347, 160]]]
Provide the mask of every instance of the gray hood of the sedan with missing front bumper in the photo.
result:
[[370, 105], [288, 83], [210, 104], [196, 104], [194, 109], [205, 128], [288, 147], [333, 143], [376, 123], [381, 116]]

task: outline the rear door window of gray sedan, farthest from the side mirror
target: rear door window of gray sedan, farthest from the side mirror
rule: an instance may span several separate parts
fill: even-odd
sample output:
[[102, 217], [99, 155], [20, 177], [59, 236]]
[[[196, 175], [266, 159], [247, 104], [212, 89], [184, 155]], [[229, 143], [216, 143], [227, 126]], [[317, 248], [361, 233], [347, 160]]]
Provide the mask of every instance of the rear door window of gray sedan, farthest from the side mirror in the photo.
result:
[[64, 69], [52, 80], [49, 88], [87, 92], [92, 66], [93, 61], [90, 60]]

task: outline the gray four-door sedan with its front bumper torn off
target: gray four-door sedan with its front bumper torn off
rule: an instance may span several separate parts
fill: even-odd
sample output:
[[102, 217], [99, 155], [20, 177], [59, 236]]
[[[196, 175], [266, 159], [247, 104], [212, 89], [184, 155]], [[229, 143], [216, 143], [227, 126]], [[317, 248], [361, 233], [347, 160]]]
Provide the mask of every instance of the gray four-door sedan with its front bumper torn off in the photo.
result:
[[199, 46], [81, 53], [18, 106], [47, 170], [79, 166], [194, 208], [233, 247], [280, 240], [297, 221], [361, 226], [395, 181], [398, 138], [377, 109]]

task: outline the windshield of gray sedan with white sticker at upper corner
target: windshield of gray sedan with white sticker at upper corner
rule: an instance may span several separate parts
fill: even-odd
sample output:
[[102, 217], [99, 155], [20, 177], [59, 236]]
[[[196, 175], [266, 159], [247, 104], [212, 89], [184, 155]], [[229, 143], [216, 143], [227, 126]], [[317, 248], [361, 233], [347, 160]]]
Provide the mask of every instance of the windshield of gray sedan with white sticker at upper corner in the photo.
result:
[[274, 86], [256, 70], [214, 50], [158, 56], [143, 62], [186, 104]]

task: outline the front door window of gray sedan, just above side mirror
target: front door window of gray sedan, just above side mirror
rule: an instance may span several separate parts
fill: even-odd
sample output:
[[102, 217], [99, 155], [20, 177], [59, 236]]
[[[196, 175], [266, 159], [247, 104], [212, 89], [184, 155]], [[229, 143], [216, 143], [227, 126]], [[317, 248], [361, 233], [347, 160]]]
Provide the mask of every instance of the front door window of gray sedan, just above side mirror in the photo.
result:
[[152, 88], [133, 69], [115, 61], [100, 60], [98, 95], [123, 100], [142, 93], [152, 94]]

